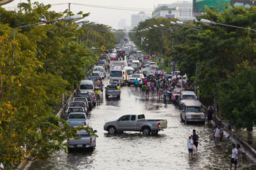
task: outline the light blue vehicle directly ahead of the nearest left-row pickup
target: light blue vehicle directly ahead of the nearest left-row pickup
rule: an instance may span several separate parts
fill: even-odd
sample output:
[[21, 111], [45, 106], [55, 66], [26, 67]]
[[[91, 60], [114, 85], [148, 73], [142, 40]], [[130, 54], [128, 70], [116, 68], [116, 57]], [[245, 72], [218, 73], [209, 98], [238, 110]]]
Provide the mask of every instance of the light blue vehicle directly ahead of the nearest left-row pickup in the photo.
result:
[[88, 125], [86, 113], [83, 112], [72, 112], [67, 117], [67, 123], [70, 127], [78, 125]]

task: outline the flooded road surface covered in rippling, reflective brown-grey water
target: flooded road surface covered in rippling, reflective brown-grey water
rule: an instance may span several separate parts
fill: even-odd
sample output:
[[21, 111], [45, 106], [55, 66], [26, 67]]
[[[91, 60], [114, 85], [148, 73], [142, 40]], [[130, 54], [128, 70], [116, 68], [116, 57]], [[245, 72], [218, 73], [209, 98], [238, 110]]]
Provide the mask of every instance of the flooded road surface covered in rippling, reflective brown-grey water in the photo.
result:
[[[108, 84], [107, 80], [104, 82]], [[146, 99], [135, 88], [122, 87], [120, 101], [104, 98], [89, 115], [89, 124], [97, 129], [99, 136], [93, 152], [58, 152], [48, 161], [31, 163], [27, 169], [229, 169], [229, 140], [224, 139], [221, 146], [215, 147], [211, 126], [184, 125], [178, 107], [162, 103], [157, 96]], [[103, 130], [106, 121], [134, 113], [143, 113], [148, 119], [167, 119], [168, 128], [157, 136], [134, 132], [110, 136]], [[194, 128], [200, 135], [200, 144], [195, 158], [189, 160], [187, 139]], [[243, 169], [256, 169], [256, 164], [245, 155], [243, 163]]]

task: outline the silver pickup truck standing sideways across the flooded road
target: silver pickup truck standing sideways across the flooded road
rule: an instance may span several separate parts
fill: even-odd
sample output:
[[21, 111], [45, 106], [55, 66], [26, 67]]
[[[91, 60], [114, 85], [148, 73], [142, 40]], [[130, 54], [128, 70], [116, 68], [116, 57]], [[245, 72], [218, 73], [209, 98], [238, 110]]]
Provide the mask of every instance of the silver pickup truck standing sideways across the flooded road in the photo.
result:
[[107, 122], [104, 130], [108, 134], [123, 131], [141, 131], [144, 135], [158, 134], [167, 128], [167, 120], [146, 120], [145, 115], [124, 115], [118, 120]]

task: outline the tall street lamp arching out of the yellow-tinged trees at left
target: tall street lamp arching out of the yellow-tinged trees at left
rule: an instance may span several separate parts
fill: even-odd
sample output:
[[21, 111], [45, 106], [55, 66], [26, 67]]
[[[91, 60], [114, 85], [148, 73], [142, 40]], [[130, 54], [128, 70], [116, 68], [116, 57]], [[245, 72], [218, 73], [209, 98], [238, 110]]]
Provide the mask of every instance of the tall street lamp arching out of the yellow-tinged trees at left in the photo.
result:
[[72, 15], [70, 17], [67, 17], [67, 18], [61, 18], [59, 20], [48, 20], [48, 21], [45, 21], [45, 22], [42, 22], [42, 23], [32, 23], [32, 24], [29, 24], [29, 25], [26, 25], [26, 26], [18, 26], [17, 28], [14, 29], [13, 31], [13, 37], [12, 37], [12, 59], [13, 59], [13, 63], [14, 63], [14, 51], [15, 51], [15, 32], [17, 29], [19, 28], [26, 28], [26, 27], [29, 27], [29, 26], [37, 26], [37, 25], [42, 25], [42, 24], [45, 24], [45, 23], [53, 23], [53, 22], [58, 22], [58, 21], [65, 21], [65, 20], [72, 20], [72, 21], [77, 21], [77, 20], [80, 20], [83, 18], [83, 15]]

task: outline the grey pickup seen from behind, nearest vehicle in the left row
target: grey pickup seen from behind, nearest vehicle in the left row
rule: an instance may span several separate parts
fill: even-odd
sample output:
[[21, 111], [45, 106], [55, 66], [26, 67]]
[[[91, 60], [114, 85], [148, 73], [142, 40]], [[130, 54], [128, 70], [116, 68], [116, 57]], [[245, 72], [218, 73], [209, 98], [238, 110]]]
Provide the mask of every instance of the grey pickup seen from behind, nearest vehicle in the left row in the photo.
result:
[[[97, 130], [94, 130], [94, 134], [97, 133]], [[86, 130], [81, 129], [77, 131], [77, 135], [74, 138], [67, 139], [67, 149], [69, 152], [75, 149], [88, 148], [94, 150], [96, 147], [96, 136], [90, 135]]]

